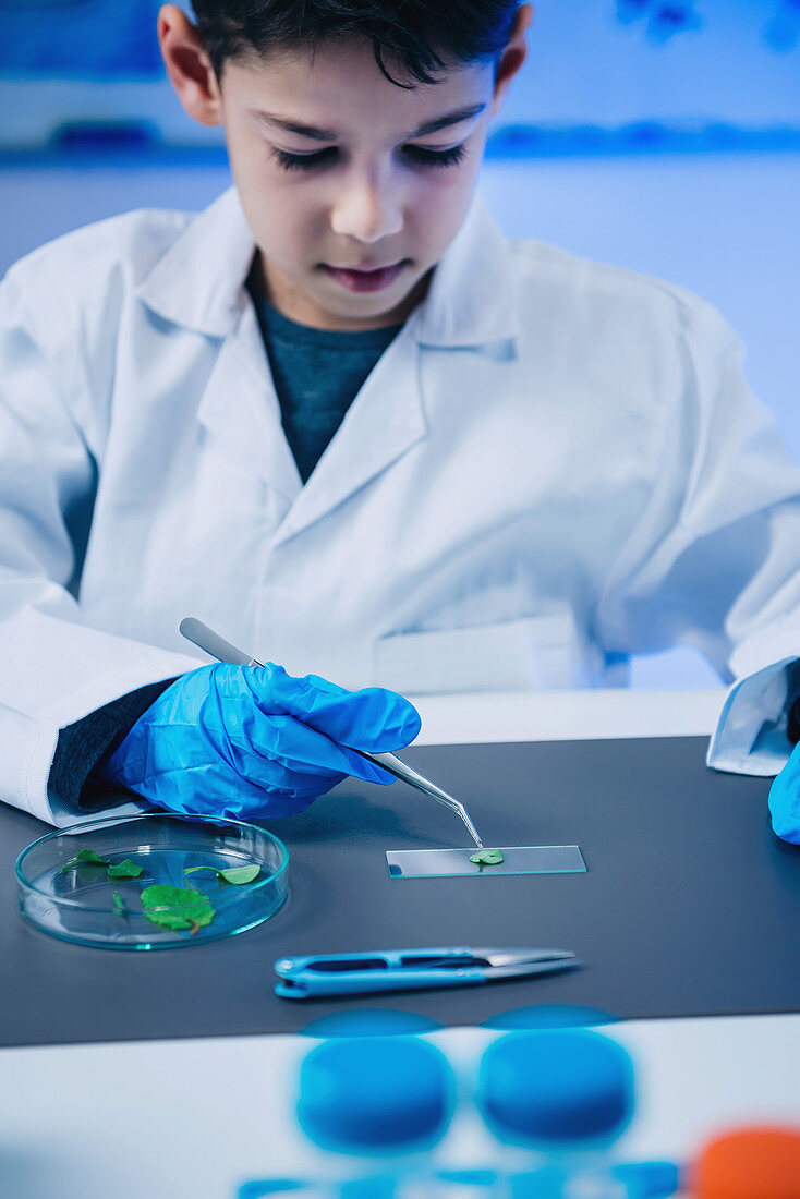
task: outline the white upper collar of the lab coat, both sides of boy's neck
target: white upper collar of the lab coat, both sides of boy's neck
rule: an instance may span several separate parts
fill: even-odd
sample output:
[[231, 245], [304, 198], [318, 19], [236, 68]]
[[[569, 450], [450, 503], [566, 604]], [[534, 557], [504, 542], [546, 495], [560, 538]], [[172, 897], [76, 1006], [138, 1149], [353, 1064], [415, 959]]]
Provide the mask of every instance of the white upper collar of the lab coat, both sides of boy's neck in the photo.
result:
[[[247, 306], [255, 252], [235, 188], [186, 225], [137, 289], [164, 320], [227, 337]], [[428, 294], [409, 320], [422, 345], [477, 347], [517, 336], [517, 287], [509, 240], [479, 193], [437, 264]]]

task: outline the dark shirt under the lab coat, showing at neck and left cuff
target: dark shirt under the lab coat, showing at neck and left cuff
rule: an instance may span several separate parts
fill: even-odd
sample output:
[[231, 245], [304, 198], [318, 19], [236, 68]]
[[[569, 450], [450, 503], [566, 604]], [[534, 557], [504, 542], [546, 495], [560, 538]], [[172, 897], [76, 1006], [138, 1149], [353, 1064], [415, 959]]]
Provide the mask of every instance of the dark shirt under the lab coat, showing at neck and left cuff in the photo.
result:
[[[365, 379], [403, 327], [357, 333], [311, 329], [289, 320], [260, 293], [254, 272], [247, 288], [264, 337], [281, 417], [303, 483], [309, 478]], [[175, 680], [121, 695], [61, 729], [48, 793], [77, 809], [107, 802], [107, 788], [90, 775], [110, 757], [155, 699]]]

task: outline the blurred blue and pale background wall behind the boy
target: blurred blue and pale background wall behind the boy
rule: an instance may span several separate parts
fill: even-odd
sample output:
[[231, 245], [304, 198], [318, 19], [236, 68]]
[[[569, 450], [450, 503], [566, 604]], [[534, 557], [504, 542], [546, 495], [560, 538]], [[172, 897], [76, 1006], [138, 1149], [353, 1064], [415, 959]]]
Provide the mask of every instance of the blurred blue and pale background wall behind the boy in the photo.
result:
[[[227, 186], [218, 134], [193, 126], [163, 79], [156, 11], [0, 0], [0, 270], [88, 221], [197, 209]], [[61, 35], [43, 38], [56, 20]], [[800, 0], [541, 0], [481, 177], [510, 234], [714, 302], [798, 460], [799, 43]], [[716, 676], [679, 650], [639, 659], [633, 681]]]

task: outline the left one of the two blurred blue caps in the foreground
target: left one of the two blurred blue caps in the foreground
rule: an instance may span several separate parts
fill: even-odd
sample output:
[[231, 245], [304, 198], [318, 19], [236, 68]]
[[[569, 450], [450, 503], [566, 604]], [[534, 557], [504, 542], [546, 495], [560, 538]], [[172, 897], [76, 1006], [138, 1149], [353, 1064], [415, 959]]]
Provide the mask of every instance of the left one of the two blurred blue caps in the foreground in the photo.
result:
[[431, 1149], [455, 1108], [446, 1058], [413, 1037], [326, 1041], [300, 1067], [297, 1119], [321, 1149], [397, 1153]]

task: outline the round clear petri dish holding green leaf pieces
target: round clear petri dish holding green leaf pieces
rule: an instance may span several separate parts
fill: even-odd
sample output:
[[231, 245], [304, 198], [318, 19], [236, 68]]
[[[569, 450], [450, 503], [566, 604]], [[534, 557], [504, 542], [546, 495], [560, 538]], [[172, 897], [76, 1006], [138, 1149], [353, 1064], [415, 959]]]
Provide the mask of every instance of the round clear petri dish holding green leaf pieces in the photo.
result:
[[[86, 850], [104, 863], [67, 864]], [[109, 864], [128, 860], [142, 867], [138, 878], [108, 876]], [[236, 885], [217, 873], [240, 867], [258, 875]], [[258, 825], [154, 812], [58, 829], [24, 849], [14, 870], [20, 914], [41, 932], [107, 950], [162, 950], [218, 941], [273, 916], [288, 894], [289, 851]], [[194, 894], [157, 892], [143, 904], [151, 886]]]

